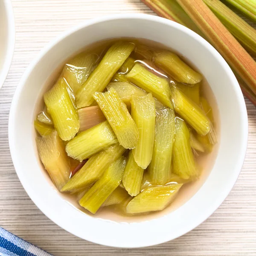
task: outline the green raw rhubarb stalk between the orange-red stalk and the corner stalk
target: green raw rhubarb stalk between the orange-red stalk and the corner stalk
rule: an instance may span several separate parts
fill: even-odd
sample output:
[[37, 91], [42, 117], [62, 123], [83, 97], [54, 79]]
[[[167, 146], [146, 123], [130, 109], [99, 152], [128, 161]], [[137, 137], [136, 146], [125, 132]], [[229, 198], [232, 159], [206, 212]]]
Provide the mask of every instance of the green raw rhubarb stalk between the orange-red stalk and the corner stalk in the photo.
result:
[[256, 55], [256, 29], [253, 29], [252, 26], [219, 0], [204, 0], [204, 3], [207, 4], [240, 44], [253, 55]]

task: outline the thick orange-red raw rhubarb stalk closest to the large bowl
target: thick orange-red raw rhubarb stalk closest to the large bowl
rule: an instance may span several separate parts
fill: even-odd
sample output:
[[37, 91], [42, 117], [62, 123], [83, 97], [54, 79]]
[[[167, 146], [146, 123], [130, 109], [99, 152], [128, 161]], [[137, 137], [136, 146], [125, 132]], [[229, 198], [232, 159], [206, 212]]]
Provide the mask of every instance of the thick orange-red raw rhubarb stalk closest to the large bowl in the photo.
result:
[[212, 45], [256, 93], [256, 62], [214, 15], [203, 0], [177, 0]]

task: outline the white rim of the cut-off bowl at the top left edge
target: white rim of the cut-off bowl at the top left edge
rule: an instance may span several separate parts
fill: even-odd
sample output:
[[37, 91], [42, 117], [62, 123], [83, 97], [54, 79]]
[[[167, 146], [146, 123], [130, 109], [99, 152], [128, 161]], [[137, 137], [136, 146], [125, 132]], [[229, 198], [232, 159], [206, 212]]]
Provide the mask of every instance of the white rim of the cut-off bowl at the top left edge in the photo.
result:
[[3, 4], [5, 6], [8, 21], [8, 39], [6, 56], [3, 63], [3, 68], [0, 73], [0, 89], [3, 86], [6, 77], [9, 73], [15, 49], [15, 17], [12, 9], [12, 3], [11, 0], [3, 0]]

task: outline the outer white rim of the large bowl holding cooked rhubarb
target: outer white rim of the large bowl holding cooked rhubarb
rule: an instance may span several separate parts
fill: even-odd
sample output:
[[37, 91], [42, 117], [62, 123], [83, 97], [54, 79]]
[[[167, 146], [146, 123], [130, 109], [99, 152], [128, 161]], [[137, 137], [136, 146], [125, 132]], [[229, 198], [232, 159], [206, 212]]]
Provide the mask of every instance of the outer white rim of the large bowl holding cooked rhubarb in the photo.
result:
[[[240, 147], [240, 157], [239, 160], [237, 161], [237, 168], [233, 172], [232, 177], [230, 177], [228, 185], [223, 189], [221, 196], [216, 198], [215, 202], [212, 202], [211, 207], [208, 207], [207, 210], [204, 212], [204, 216], [201, 216], [200, 220], [198, 219], [197, 221], [193, 221], [193, 224], [190, 224], [189, 227], [186, 227], [185, 229], [181, 229], [180, 231], [177, 231], [175, 236], [165, 236], [164, 239], [161, 241], [137, 241], [136, 244], [117, 244], [115, 242], [105, 242], [105, 241], [99, 241], [97, 239], [91, 239], [90, 234], [89, 235], [83, 235], [76, 230], [72, 230], [70, 226], [64, 224], [62, 221], [59, 221], [58, 218], [55, 218], [52, 214], [51, 211], [47, 209], [47, 207], [43, 207], [43, 205], [39, 202], [39, 200], [36, 200], [36, 197], [33, 195], [32, 189], [29, 188], [26, 184], [26, 176], [23, 175], [22, 167], [19, 166], [19, 160], [17, 158], [17, 152], [15, 151], [15, 140], [14, 140], [14, 134], [15, 134], [15, 127], [12, 125], [15, 122], [15, 112], [17, 110], [17, 102], [20, 96], [20, 92], [23, 89], [24, 84], [26, 83], [27, 78], [29, 77], [30, 73], [38, 64], [38, 62], [41, 60], [41, 58], [53, 47], [55, 44], [58, 44], [61, 40], [72, 34], [73, 32], [76, 32], [79, 29], [82, 29], [86, 26], [93, 25], [95, 23], [100, 23], [108, 20], [119, 20], [119, 19], [143, 19], [143, 20], [150, 20], [154, 21], [157, 23], [163, 23], [168, 26], [174, 26], [177, 29], [183, 31], [186, 34], [189, 34], [196, 40], [201, 41], [204, 46], [207, 46], [207, 49], [211, 52], [213, 52], [216, 55], [216, 58], [218, 58], [219, 61], [222, 62], [222, 64], [225, 67], [225, 72], [230, 76], [230, 80], [233, 81], [233, 89], [235, 90], [237, 97], [238, 97], [238, 105], [239, 109], [241, 111], [241, 118], [242, 120], [242, 128], [241, 128], [241, 137], [243, 138], [243, 143], [242, 146]], [[241, 172], [241, 168], [244, 163], [245, 155], [246, 155], [246, 149], [247, 149], [247, 140], [248, 140], [248, 119], [247, 119], [247, 109], [246, 105], [244, 102], [244, 96], [241, 92], [241, 89], [239, 87], [238, 81], [236, 80], [236, 77], [234, 76], [232, 70], [228, 66], [227, 62], [224, 60], [224, 58], [218, 53], [218, 51], [212, 47], [204, 38], [201, 38], [198, 34], [193, 32], [192, 30], [186, 28], [183, 25], [180, 25], [172, 20], [167, 20], [162, 17], [158, 16], [153, 16], [153, 15], [146, 15], [146, 14], [117, 14], [117, 15], [107, 15], [104, 17], [98, 17], [94, 18], [92, 20], [87, 20], [82, 24], [79, 24], [65, 32], [63, 32], [61, 35], [59, 35], [57, 38], [55, 38], [53, 41], [49, 42], [44, 49], [41, 50], [41, 52], [38, 54], [38, 56], [29, 64], [29, 66], [26, 68], [26, 71], [24, 72], [22, 78], [20, 79], [19, 84], [17, 85], [17, 89], [15, 91], [13, 100], [12, 100], [12, 105], [10, 109], [10, 114], [9, 114], [9, 147], [10, 147], [10, 152], [12, 156], [12, 161], [15, 167], [15, 171], [17, 173], [17, 176], [20, 180], [20, 182], [23, 185], [23, 188], [29, 195], [29, 197], [32, 199], [34, 204], [50, 219], [52, 220], [55, 224], [57, 224], [59, 227], [63, 228], [64, 230], [68, 231], [69, 233], [72, 233], [75, 236], [78, 236], [82, 239], [85, 239], [87, 241], [94, 242], [96, 244], [101, 244], [105, 246], [112, 246], [112, 247], [122, 247], [122, 248], [136, 248], [136, 247], [147, 247], [147, 246], [153, 246], [157, 244], [161, 244], [173, 239], [176, 239], [177, 237], [183, 236], [184, 234], [188, 233], [189, 231], [193, 230], [195, 227], [200, 225], [202, 222], [204, 222], [207, 218], [209, 218], [210, 215], [212, 215], [213, 212], [215, 212], [216, 209], [222, 204], [222, 202], [225, 200], [227, 195], [230, 193], [232, 190], [233, 186], [236, 183], [237, 178], [239, 177], [239, 174]], [[145, 240], [145, 239], [144, 239]]]

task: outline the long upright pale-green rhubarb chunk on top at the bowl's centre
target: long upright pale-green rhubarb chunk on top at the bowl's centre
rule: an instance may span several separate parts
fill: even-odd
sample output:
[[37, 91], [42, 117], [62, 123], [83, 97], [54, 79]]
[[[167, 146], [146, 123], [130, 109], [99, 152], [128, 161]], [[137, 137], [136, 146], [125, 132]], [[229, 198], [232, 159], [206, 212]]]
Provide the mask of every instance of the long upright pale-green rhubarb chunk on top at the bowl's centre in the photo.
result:
[[146, 169], [152, 159], [155, 136], [156, 109], [151, 93], [132, 96], [131, 116], [139, 129], [139, 140], [132, 153], [137, 165]]

